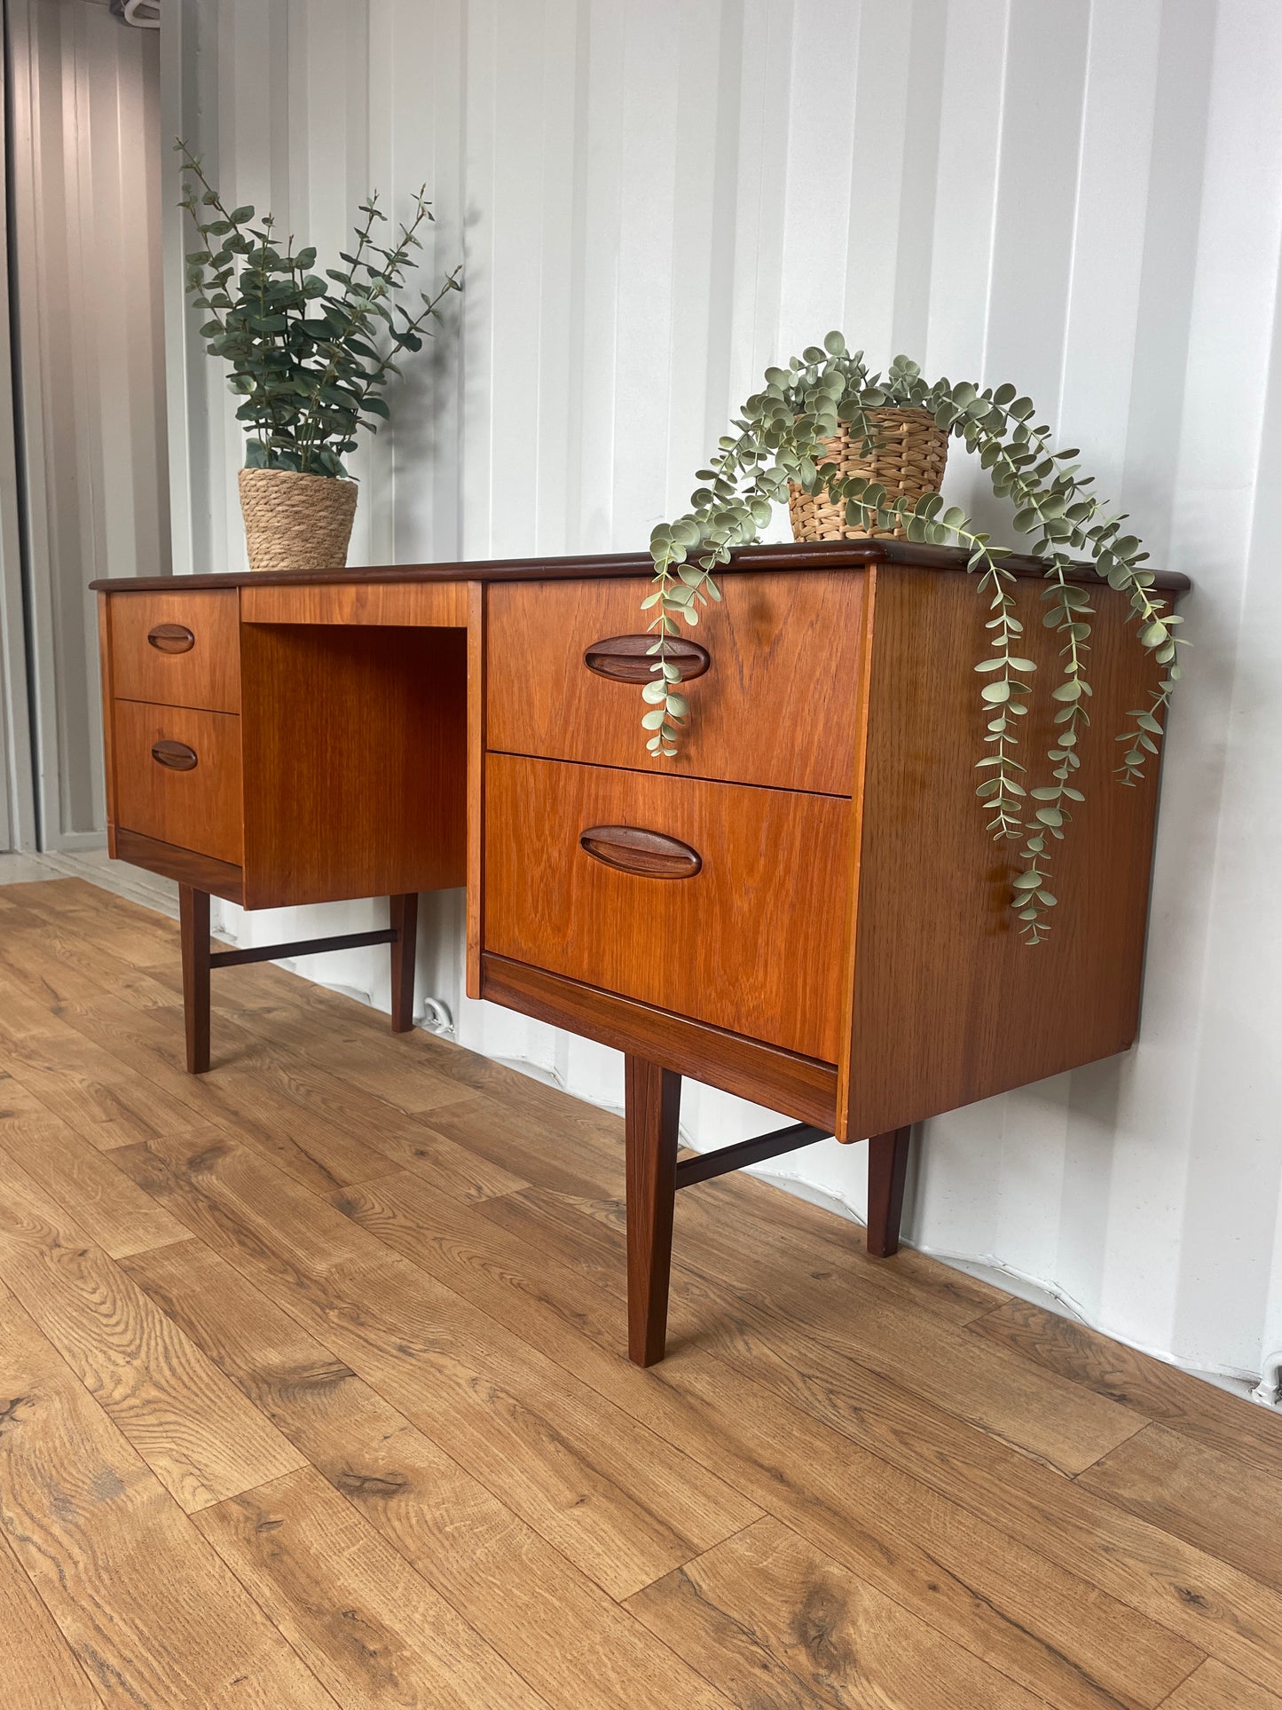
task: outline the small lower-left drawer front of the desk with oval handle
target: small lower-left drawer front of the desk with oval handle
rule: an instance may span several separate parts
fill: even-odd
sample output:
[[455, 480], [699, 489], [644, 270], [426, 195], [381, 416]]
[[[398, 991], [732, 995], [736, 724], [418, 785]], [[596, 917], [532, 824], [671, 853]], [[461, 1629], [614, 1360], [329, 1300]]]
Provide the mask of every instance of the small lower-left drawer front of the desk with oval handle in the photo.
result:
[[188, 706], [115, 706], [116, 824], [241, 865], [241, 722]]

